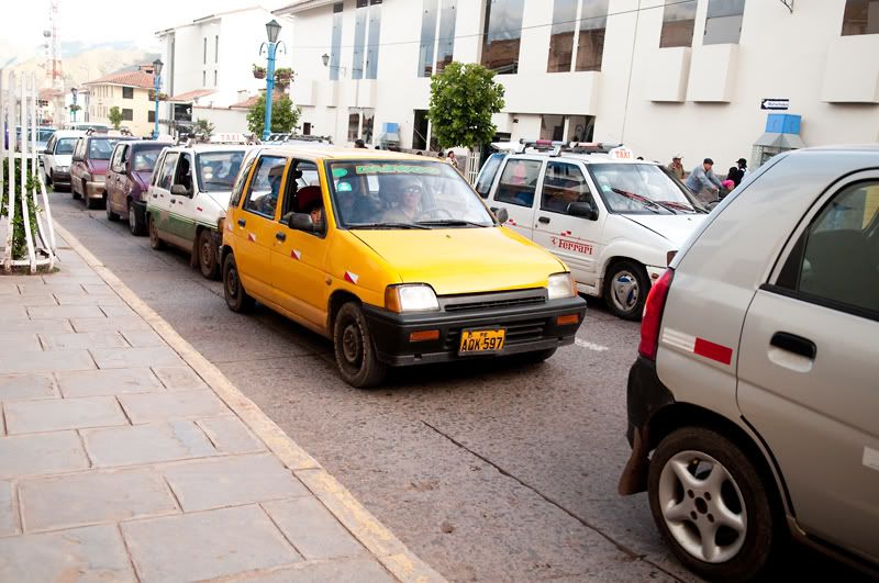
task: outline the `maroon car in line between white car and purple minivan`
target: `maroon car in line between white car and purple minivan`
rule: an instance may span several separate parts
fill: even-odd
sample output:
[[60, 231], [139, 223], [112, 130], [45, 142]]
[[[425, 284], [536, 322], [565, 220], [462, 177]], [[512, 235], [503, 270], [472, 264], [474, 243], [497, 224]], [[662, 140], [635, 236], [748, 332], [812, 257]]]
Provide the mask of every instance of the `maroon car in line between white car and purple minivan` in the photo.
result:
[[70, 165], [70, 191], [75, 199], [82, 197], [87, 209], [101, 206], [107, 199], [107, 168], [113, 146], [120, 141], [134, 139], [125, 136], [86, 134], [74, 147]]

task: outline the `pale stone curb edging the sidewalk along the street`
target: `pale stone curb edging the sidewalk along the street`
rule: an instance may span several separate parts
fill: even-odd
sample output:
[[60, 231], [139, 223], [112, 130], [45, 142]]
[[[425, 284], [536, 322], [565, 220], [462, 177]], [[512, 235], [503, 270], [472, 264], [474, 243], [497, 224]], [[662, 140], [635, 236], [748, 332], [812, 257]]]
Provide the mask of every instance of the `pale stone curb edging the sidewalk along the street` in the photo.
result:
[[360, 504], [305, 450], [300, 448], [256, 404], [204, 358], [192, 345], [141, 300], [115, 273], [104, 266], [66, 228], [53, 221], [55, 232], [112, 289], [123, 302], [144, 318], [156, 334], [168, 343], [180, 358], [208, 384], [242, 422], [275, 453], [281, 462], [321, 501], [330, 513], [372, 553], [398, 580], [409, 583], [444, 582], [445, 579], [419, 559], [385, 525]]

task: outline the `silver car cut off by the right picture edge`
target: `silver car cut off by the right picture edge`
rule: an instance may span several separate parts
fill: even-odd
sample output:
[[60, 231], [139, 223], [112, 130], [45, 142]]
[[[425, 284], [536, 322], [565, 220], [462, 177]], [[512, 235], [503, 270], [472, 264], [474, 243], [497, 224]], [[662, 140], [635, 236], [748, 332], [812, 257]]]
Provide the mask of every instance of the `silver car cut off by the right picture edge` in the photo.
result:
[[877, 338], [879, 146], [776, 156], [647, 298], [621, 493], [709, 581], [788, 534], [879, 574]]

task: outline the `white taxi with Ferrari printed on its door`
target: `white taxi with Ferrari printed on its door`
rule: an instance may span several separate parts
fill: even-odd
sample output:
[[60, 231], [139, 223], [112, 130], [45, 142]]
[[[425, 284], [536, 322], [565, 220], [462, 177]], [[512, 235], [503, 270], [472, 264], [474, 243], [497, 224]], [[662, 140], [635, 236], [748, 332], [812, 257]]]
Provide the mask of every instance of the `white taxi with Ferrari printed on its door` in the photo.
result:
[[[476, 190], [507, 226], [553, 251], [577, 289], [638, 319], [650, 284], [706, 214], [661, 166], [617, 145], [531, 142], [491, 155]], [[552, 149], [548, 149], [552, 148]]]

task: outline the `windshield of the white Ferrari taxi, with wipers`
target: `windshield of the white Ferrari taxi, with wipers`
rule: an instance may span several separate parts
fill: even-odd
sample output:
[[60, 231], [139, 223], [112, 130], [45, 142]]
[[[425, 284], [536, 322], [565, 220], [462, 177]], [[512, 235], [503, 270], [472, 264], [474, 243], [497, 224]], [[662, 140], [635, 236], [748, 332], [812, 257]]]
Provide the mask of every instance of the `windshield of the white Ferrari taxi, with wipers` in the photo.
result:
[[590, 164], [589, 171], [608, 208], [615, 213], [697, 213], [693, 201], [653, 164]]

